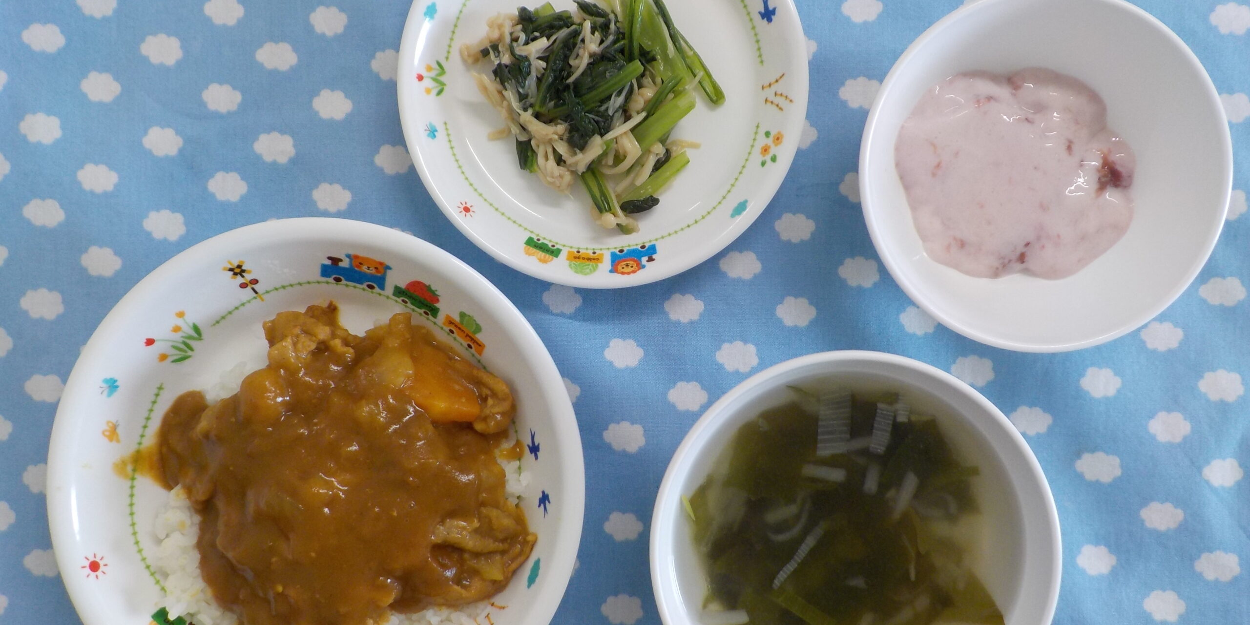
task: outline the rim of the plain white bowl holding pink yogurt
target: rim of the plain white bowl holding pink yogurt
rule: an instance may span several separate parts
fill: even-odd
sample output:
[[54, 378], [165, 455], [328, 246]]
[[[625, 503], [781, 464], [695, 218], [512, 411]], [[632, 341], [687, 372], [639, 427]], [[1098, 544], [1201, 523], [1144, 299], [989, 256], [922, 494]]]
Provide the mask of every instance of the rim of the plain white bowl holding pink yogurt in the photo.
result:
[[[1012, 1], [1018, 0], [976, 0], [971, 4], [960, 6], [959, 9], [955, 9], [954, 11], [951, 11], [950, 14], [945, 15], [942, 19], [938, 20], [931, 26], [929, 26], [919, 38], [915, 39], [915, 41], [911, 42], [911, 45], [908, 46], [906, 50], [904, 50], [904, 52], [899, 56], [899, 60], [896, 60], [894, 65], [890, 68], [890, 72], [886, 74], [885, 80], [881, 81], [881, 88], [878, 90], [876, 99], [872, 102], [871, 110], [869, 110], [868, 121], [865, 121], [864, 124], [864, 135], [860, 141], [860, 158], [858, 162], [859, 171], [861, 172], [870, 171], [868, 166], [869, 159], [874, 154], [871, 146], [875, 142], [874, 141], [875, 135], [881, 131], [878, 128], [879, 126], [878, 118], [880, 116], [881, 112], [881, 102], [886, 98], [890, 98], [892, 95], [892, 90], [896, 89], [895, 82], [898, 81], [898, 76], [901, 69], [910, 60], [919, 56], [920, 49], [925, 48], [930, 40], [938, 38], [941, 34], [941, 31], [949, 28], [952, 22], [964, 19], [969, 15], [972, 15], [979, 10], [986, 10], [988, 6], [995, 6]], [[879, 201], [876, 200], [874, 185], [870, 184], [869, 176], [861, 175], [859, 179], [859, 190], [861, 199], [860, 205], [864, 211], [864, 221], [868, 224], [868, 231], [869, 236], [872, 240], [872, 246], [876, 248], [878, 255], [881, 258], [881, 261], [885, 264], [885, 268], [890, 272], [890, 276], [894, 279], [894, 281], [899, 285], [900, 289], [902, 289], [902, 291], [908, 295], [908, 298], [911, 299], [911, 301], [914, 301], [918, 306], [924, 309], [925, 312], [936, 319], [944, 326], [969, 339], [972, 339], [974, 341], [990, 345], [994, 348], [1000, 348], [1012, 351], [1029, 351], [1029, 352], [1072, 351], [1085, 348], [1092, 348], [1095, 345], [1101, 345], [1104, 342], [1119, 339], [1120, 336], [1124, 336], [1136, 330], [1138, 328], [1141, 328], [1148, 321], [1150, 321], [1160, 312], [1162, 312], [1165, 309], [1168, 309], [1168, 306], [1171, 306], [1172, 302], [1175, 302], [1176, 299], [1180, 298], [1180, 295], [1185, 292], [1185, 290], [1189, 289], [1189, 286], [1194, 282], [1194, 279], [1198, 278], [1199, 271], [1201, 271], [1202, 268], [1206, 266], [1208, 260], [1210, 260], [1211, 251], [1215, 249], [1215, 244], [1220, 239], [1220, 232], [1224, 229], [1224, 224], [1228, 216], [1229, 200], [1231, 199], [1232, 194], [1232, 139], [1231, 139], [1231, 132], [1229, 130], [1228, 115], [1224, 111], [1224, 105], [1220, 101], [1220, 92], [1215, 88], [1215, 82], [1211, 81], [1211, 76], [1210, 74], [1208, 74], [1206, 68], [1202, 66], [1202, 62], [1198, 59], [1198, 55], [1194, 54], [1194, 51], [1189, 48], [1189, 45], [1185, 44], [1185, 41], [1180, 39], [1180, 36], [1176, 35], [1176, 32], [1169, 29], [1162, 21], [1160, 21], [1158, 18], [1148, 12], [1145, 9], [1141, 9], [1140, 6], [1136, 6], [1126, 0], [1084, 0], [1084, 1], [1112, 6], [1118, 10], [1125, 11], [1126, 14], [1129, 14], [1129, 16], [1136, 18], [1144, 21], [1145, 24], [1152, 26], [1155, 30], [1162, 34], [1165, 39], [1168, 39], [1174, 44], [1174, 46], [1181, 54], [1181, 58], [1185, 61], [1188, 61], [1190, 69], [1194, 70], [1198, 74], [1198, 76], [1205, 79], [1204, 90], [1206, 99], [1209, 100], [1209, 104], [1211, 104], [1214, 109], [1219, 111], [1219, 116], [1221, 121], [1224, 121], [1224, 124], [1220, 126], [1220, 145], [1219, 145], [1220, 166], [1222, 169], [1221, 174], [1224, 179], [1222, 192], [1220, 199], [1219, 219], [1216, 220], [1215, 226], [1210, 229], [1210, 231], [1208, 232], [1206, 240], [1204, 241], [1202, 248], [1200, 249], [1201, 260], [1194, 262], [1194, 265], [1186, 272], [1184, 280], [1179, 281], [1155, 305], [1144, 309], [1141, 312], [1136, 315], [1130, 315], [1129, 321], [1125, 322], [1121, 328], [1099, 336], [1089, 336], [1079, 340], [1054, 341], [1054, 342], [1025, 342], [1025, 341], [1002, 339], [991, 334], [985, 334], [969, 324], [964, 324], [952, 319], [950, 315], [946, 315], [942, 310], [936, 309], [928, 301], [928, 299], [924, 296], [924, 290], [918, 288], [918, 285], [912, 282], [909, 279], [909, 276], [901, 271], [901, 262], [898, 259], [895, 259], [894, 254], [891, 252], [892, 248], [889, 245], [889, 241], [884, 238], [884, 235], [879, 230], [878, 218], [875, 216], [876, 211], [874, 210], [874, 205], [879, 204]]]

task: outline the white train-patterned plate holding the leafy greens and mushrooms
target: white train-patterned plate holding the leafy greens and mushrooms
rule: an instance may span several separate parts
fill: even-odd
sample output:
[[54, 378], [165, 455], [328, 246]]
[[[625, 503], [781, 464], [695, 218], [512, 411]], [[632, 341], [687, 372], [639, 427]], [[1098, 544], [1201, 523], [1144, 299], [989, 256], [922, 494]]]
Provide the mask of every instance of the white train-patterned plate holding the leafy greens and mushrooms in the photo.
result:
[[416, 0], [404, 28], [396, 76], [404, 136], [425, 188], [465, 236], [531, 276], [610, 289], [685, 271], [755, 221], [790, 168], [808, 108], [808, 40], [792, 0], [668, 2], [725, 104], [696, 94], [698, 108], [674, 136], [702, 148], [632, 235], [595, 224], [580, 185], [561, 195], [521, 171], [511, 139], [486, 139], [502, 122], [459, 49], [481, 39], [486, 18], [519, 4]]

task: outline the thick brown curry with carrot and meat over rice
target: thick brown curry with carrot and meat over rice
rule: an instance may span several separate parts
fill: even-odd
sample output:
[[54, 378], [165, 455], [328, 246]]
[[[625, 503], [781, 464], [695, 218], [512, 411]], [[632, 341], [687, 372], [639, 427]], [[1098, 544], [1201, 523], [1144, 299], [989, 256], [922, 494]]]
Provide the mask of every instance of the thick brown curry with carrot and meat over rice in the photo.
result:
[[410, 315], [356, 336], [334, 302], [265, 322], [269, 365], [179, 396], [160, 478], [200, 516], [200, 569], [245, 625], [365, 625], [508, 585], [534, 546], [495, 446], [502, 380]]

